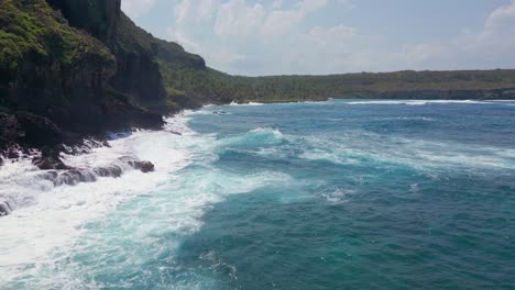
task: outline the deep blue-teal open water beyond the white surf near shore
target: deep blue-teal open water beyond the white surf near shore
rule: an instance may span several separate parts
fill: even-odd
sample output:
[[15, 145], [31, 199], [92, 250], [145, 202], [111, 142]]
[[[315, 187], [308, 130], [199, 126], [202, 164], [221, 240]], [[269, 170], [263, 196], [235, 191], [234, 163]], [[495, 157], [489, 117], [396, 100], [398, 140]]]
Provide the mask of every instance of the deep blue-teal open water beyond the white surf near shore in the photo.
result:
[[198, 132], [246, 135], [216, 168], [291, 180], [213, 207], [180, 261], [232, 267], [220, 289], [514, 289], [515, 107], [408, 103], [196, 115]]

